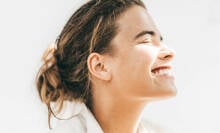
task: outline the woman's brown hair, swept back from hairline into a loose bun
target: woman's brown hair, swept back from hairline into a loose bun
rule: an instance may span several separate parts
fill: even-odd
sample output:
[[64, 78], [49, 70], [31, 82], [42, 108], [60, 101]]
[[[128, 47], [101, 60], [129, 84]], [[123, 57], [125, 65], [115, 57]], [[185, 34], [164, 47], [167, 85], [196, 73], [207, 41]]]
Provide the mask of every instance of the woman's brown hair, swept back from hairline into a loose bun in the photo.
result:
[[65, 100], [82, 100], [91, 109], [91, 81], [87, 57], [92, 52], [112, 52], [110, 42], [117, 34], [116, 19], [133, 5], [145, 8], [141, 0], [90, 0], [68, 20], [55, 43], [43, 55], [36, 85], [40, 99], [48, 107], [48, 122], [55, 115], [54, 102], [63, 107]]

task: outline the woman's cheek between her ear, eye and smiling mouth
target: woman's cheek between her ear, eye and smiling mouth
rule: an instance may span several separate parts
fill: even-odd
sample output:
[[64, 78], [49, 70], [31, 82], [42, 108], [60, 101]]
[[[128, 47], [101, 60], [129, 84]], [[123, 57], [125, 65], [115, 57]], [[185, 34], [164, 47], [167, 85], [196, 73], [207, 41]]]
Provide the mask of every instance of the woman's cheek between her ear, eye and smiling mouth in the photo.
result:
[[[131, 86], [143, 86], [151, 82], [150, 72], [157, 55], [157, 49], [150, 46], [136, 46], [121, 54], [115, 60], [115, 77], [120, 82]], [[129, 84], [128, 84], [129, 83]]]

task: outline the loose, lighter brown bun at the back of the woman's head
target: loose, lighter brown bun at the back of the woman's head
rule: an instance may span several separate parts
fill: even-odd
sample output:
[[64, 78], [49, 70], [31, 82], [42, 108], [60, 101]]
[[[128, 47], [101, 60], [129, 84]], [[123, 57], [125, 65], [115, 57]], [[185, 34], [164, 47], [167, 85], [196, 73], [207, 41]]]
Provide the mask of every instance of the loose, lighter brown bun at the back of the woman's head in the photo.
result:
[[[43, 101], [48, 107], [48, 120], [50, 121], [51, 102], [56, 101], [59, 104], [59, 110], [61, 110], [64, 101], [64, 89], [62, 86], [59, 69], [57, 66], [57, 60], [55, 57], [56, 49], [51, 45], [43, 54], [42, 66], [39, 69], [36, 78], [36, 85], [39, 92], [41, 101]], [[49, 122], [50, 123], [50, 122]], [[50, 125], [49, 125], [50, 126]]]

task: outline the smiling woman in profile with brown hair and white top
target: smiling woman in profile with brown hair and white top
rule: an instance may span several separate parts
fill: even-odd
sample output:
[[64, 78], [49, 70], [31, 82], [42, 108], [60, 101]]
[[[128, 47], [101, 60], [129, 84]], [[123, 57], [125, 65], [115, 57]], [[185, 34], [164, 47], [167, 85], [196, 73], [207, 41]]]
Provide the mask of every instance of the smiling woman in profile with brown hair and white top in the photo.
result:
[[141, 0], [88, 1], [46, 51], [37, 76], [49, 120], [74, 103], [74, 115], [52, 132], [156, 132], [142, 112], [176, 94], [173, 57]]

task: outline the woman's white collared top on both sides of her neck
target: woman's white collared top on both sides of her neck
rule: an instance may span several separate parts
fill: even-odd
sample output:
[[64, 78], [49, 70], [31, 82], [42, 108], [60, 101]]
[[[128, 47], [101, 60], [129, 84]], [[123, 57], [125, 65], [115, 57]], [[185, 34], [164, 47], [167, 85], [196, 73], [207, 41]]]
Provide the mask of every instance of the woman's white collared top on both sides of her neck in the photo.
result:
[[[84, 103], [72, 104], [73, 117], [69, 120], [59, 120], [55, 128], [49, 133], [104, 133], [99, 123]], [[142, 120], [139, 125], [139, 133], [171, 133], [160, 127]]]

